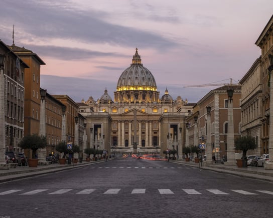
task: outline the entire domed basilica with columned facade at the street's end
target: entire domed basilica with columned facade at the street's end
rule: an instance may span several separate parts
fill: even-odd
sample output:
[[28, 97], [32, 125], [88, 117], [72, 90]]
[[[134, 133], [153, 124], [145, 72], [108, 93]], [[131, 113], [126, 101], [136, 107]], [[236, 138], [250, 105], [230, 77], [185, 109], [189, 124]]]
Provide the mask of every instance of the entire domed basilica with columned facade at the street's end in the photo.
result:
[[167, 88], [160, 96], [156, 80], [143, 66], [138, 49], [117, 80], [113, 99], [105, 89], [97, 101], [90, 96], [78, 104], [85, 118], [86, 147], [161, 154], [172, 149], [181, 156], [185, 120], [195, 105], [180, 96], [173, 99]]

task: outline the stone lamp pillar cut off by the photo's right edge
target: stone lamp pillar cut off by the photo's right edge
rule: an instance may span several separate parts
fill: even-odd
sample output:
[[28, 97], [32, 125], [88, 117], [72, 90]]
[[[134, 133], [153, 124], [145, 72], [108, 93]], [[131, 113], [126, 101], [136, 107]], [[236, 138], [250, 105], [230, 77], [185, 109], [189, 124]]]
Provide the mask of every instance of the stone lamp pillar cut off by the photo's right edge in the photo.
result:
[[268, 55], [269, 67], [267, 68], [269, 74], [270, 84], [270, 105], [269, 105], [269, 142], [268, 142], [268, 154], [269, 163], [264, 164], [264, 169], [273, 169], [273, 55]]

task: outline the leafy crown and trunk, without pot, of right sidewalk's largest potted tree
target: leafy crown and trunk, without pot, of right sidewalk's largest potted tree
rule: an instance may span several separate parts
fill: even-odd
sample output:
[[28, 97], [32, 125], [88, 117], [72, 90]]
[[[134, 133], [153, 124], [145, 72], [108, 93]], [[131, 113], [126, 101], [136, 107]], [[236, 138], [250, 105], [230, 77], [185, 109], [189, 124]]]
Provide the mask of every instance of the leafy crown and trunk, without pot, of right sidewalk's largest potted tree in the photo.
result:
[[254, 137], [250, 135], [242, 136], [235, 139], [235, 148], [243, 152], [242, 158], [246, 157], [246, 152], [248, 150], [253, 150], [257, 148], [257, 144]]

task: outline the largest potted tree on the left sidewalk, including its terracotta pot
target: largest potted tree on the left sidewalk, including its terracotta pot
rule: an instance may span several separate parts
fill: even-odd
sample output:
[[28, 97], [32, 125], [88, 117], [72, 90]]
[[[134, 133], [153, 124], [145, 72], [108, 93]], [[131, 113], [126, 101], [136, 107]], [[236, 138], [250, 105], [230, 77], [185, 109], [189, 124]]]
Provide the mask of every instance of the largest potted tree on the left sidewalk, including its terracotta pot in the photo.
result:
[[47, 138], [46, 136], [39, 136], [38, 134], [26, 135], [19, 142], [19, 146], [22, 149], [32, 150], [32, 158], [28, 159], [29, 167], [37, 167], [38, 158], [35, 158], [37, 155], [37, 150], [47, 146]]

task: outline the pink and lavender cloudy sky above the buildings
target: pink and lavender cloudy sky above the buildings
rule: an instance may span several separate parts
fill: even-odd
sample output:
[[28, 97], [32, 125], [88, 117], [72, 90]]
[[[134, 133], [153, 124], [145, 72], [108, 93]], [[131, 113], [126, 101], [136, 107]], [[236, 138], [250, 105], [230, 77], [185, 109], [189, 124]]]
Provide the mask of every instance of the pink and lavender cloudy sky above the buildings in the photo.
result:
[[[57, 3], [56, 3], [57, 2]], [[238, 82], [261, 54], [255, 45], [272, 0], [1, 0], [0, 39], [46, 63], [41, 87], [74, 101], [113, 99], [138, 48], [160, 96], [197, 102], [215, 86]]]

